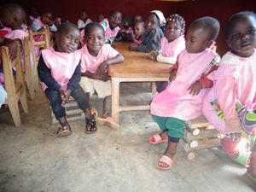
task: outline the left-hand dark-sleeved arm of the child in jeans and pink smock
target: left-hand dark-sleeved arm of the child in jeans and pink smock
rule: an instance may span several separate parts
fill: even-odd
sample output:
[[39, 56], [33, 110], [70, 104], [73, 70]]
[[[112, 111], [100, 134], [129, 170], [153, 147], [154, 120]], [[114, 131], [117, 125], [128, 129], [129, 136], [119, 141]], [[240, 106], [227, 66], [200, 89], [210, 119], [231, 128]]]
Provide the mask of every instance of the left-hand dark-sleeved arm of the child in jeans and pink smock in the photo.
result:
[[50, 90], [61, 90], [61, 85], [58, 84], [55, 79], [51, 76], [50, 69], [46, 66], [44, 58], [40, 55], [38, 61], [38, 77], [40, 81], [44, 82]]

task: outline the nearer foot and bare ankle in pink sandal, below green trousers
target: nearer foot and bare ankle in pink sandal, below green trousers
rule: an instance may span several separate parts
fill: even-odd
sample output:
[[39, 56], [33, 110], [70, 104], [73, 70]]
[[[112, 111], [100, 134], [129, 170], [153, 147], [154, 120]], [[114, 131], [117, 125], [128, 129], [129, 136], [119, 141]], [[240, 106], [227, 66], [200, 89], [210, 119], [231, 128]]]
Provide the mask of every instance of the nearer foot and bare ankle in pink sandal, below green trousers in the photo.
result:
[[177, 143], [169, 142], [165, 154], [160, 157], [160, 160], [157, 162], [156, 166], [162, 170], [168, 170], [172, 168], [173, 161], [175, 159], [176, 148]]

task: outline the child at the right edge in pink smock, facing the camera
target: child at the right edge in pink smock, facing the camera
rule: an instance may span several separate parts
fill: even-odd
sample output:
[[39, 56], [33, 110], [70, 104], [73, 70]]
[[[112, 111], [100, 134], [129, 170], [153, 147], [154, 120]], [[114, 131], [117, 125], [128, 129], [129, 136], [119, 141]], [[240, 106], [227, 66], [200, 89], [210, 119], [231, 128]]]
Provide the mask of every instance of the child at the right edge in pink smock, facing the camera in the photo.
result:
[[[203, 113], [218, 131], [226, 135], [222, 139], [222, 146], [227, 154], [236, 159], [240, 154], [233, 152], [242, 152], [245, 149], [236, 151], [241, 131], [255, 137], [255, 124], [254, 129], [251, 127], [248, 131], [244, 120], [240, 119], [244, 118], [243, 110], [241, 113], [236, 111], [237, 101], [250, 110], [256, 109], [255, 14], [244, 11], [232, 15], [227, 21], [224, 33], [230, 51], [223, 56], [218, 70], [211, 75], [214, 86], [204, 98]], [[221, 111], [222, 115], [218, 115], [216, 111]], [[253, 153], [256, 154], [256, 150]], [[254, 168], [249, 169], [249, 173], [256, 178], [255, 154], [252, 154], [254, 160], [251, 165]]]

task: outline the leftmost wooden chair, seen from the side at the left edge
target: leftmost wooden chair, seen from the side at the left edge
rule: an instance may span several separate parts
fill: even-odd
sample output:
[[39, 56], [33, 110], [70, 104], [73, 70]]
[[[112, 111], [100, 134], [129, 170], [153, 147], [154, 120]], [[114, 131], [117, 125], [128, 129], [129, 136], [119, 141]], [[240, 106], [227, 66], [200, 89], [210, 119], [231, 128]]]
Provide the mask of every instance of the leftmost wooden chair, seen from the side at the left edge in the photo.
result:
[[[19, 46], [18, 46], [19, 47]], [[8, 98], [6, 104], [9, 106], [10, 113], [14, 119], [15, 126], [20, 125], [19, 101], [25, 113], [28, 113], [26, 86], [21, 69], [20, 49], [17, 51], [17, 57], [14, 61], [9, 60], [9, 49], [2, 47], [3, 75], [5, 79], [5, 90]], [[13, 68], [15, 67], [15, 76]]]

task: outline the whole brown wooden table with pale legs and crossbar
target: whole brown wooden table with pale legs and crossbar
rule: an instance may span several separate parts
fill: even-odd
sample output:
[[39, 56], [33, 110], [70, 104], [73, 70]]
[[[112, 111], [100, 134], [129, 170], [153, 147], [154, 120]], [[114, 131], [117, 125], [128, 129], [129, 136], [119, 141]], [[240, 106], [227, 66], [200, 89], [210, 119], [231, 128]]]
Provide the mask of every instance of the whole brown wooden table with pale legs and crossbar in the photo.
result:
[[147, 106], [119, 106], [121, 82], [168, 81], [170, 64], [152, 61], [146, 53], [129, 50], [129, 44], [117, 43], [116, 49], [125, 57], [121, 64], [110, 65], [108, 73], [112, 80], [112, 117], [119, 124], [119, 112], [148, 110]]

